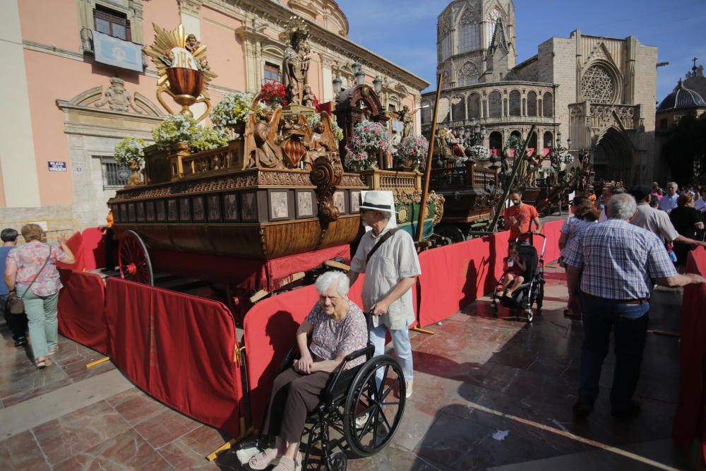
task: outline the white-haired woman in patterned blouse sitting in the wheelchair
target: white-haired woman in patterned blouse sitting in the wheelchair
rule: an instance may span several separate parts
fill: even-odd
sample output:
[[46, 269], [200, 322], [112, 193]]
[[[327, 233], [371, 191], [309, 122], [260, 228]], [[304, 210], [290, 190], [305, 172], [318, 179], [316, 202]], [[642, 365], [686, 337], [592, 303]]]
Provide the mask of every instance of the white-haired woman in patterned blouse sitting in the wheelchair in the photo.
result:
[[[368, 328], [363, 311], [348, 299], [348, 277], [330, 271], [316, 280], [319, 300], [299, 329], [297, 346], [301, 358], [282, 372], [273, 384], [263, 433], [275, 436], [275, 448], [266, 448], [251, 458], [253, 470], [279, 460], [273, 471], [295, 471], [301, 463], [299, 441], [306, 416], [319, 403], [328, 377], [349, 353], [367, 345]], [[307, 338], [311, 336], [311, 345]], [[348, 366], [365, 362], [355, 359]]]

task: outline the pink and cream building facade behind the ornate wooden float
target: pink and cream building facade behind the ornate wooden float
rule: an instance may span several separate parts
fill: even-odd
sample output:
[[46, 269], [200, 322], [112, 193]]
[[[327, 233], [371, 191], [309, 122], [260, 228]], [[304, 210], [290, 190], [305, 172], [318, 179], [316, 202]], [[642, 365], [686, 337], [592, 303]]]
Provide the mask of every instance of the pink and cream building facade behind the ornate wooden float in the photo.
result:
[[[130, 174], [112, 158], [116, 143], [125, 136], [151, 143], [152, 129], [167, 114], [155, 99], [155, 65], [141, 52], [153, 41], [153, 23], [169, 30], [184, 25], [208, 47], [217, 74], [208, 86], [214, 105], [229, 93], [256, 93], [282, 80], [292, 16], [310, 31], [308, 78], [320, 102], [335, 100], [336, 84], [345, 89], [364, 81], [379, 88], [385, 109], [414, 109], [429, 86], [350, 40], [335, 0], [36, 3], [0, 1], [7, 65], [0, 99], [12, 110], [0, 117], [0, 221], [3, 227], [38, 222], [49, 237], [105, 224], [106, 202]], [[197, 104], [192, 111], [204, 110]]]

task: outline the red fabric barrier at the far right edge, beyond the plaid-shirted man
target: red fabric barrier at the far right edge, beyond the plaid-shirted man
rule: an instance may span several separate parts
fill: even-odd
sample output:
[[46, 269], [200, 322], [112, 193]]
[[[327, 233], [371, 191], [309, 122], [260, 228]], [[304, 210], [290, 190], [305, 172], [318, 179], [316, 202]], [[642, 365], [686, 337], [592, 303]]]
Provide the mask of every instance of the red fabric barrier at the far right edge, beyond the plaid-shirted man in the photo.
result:
[[[687, 258], [686, 271], [706, 276], [706, 249], [698, 247]], [[704, 360], [706, 358], [706, 285], [684, 287], [681, 304], [679, 366], [681, 385], [672, 436], [683, 451], [693, 439], [701, 442], [706, 458]]]

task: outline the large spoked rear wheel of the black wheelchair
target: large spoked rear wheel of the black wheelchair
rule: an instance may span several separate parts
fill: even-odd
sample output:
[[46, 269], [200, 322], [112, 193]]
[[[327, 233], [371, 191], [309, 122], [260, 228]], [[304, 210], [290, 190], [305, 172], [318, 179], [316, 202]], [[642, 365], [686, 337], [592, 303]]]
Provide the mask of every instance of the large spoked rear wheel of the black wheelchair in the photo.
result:
[[[380, 387], [376, 373], [383, 376]], [[393, 357], [381, 355], [364, 364], [346, 398], [343, 431], [353, 453], [371, 456], [395, 436], [405, 412], [405, 376]]]

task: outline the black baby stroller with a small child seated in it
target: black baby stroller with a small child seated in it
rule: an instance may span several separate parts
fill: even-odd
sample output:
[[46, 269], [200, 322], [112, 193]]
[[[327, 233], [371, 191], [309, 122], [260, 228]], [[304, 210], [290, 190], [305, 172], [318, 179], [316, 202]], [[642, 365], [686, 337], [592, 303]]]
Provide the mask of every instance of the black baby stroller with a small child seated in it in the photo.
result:
[[[491, 298], [491, 307], [493, 311], [498, 311], [498, 302], [501, 306], [514, 309], [517, 316], [520, 316], [520, 311], [525, 311], [527, 322], [532, 322], [534, 314], [532, 313], [532, 304], [537, 303], [537, 315], [542, 315], [542, 299], [544, 299], [544, 249], [546, 247], [546, 236], [544, 234], [534, 234], [527, 232], [520, 234], [515, 242], [520, 242], [520, 239], [528, 235], [530, 236], [530, 245], [520, 245], [517, 247], [517, 253], [525, 259], [527, 270], [525, 270], [525, 280], [522, 285], [517, 287], [511, 297], [503, 296], [503, 282], [507, 273], [503, 273], [498, 284], [493, 290]], [[534, 236], [542, 237], [542, 253], [537, 256], [537, 249], [534, 248]]]

